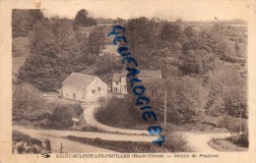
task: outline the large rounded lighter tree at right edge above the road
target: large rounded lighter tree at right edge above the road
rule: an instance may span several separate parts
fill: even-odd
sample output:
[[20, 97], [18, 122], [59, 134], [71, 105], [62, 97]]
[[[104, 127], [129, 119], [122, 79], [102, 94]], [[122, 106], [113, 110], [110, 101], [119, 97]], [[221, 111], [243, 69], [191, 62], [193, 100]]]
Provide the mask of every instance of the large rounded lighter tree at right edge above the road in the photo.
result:
[[247, 118], [246, 84], [233, 67], [223, 67], [210, 75], [210, 100], [208, 111], [219, 110], [233, 117]]

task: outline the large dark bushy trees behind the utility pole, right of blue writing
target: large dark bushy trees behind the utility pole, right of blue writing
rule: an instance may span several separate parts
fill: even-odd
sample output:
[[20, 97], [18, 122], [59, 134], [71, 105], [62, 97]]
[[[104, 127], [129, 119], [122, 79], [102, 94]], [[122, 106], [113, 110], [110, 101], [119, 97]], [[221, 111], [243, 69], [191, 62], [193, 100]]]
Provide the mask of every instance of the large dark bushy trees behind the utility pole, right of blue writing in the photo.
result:
[[193, 123], [204, 115], [208, 91], [191, 77], [172, 77], [147, 84], [154, 108], [163, 120], [164, 91], [167, 92], [167, 122]]

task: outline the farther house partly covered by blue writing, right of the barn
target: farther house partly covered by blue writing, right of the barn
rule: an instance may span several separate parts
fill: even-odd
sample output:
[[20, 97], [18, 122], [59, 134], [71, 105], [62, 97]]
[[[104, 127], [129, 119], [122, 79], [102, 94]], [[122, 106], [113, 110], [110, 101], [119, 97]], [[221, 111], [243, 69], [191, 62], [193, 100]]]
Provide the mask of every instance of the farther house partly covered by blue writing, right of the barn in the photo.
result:
[[[161, 79], [160, 71], [156, 70], [140, 70], [141, 73], [138, 74], [138, 79], [142, 81], [152, 81]], [[127, 83], [126, 83], [127, 71], [123, 71], [121, 74], [113, 74], [112, 78], [112, 92], [113, 93], [127, 93]]]

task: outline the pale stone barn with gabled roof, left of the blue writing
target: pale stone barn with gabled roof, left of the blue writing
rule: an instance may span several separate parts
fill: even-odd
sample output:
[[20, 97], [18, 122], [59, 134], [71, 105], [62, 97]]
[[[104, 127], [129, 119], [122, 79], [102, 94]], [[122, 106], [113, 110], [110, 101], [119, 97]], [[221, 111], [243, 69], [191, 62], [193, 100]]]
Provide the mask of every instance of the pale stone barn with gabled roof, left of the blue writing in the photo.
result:
[[96, 102], [101, 97], [107, 97], [107, 84], [96, 76], [72, 73], [62, 82], [60, 94], [67, 99]]

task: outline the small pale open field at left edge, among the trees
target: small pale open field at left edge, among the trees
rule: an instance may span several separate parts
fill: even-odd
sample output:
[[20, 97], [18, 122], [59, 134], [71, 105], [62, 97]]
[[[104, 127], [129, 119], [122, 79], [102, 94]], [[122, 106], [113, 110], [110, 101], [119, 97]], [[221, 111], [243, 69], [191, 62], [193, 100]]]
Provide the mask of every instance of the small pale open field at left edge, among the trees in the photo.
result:
[[20, 68], [25, 64], [26, 59], [31, 55], [30, 37], [13, 38], [13, 74], [18, 74]]

